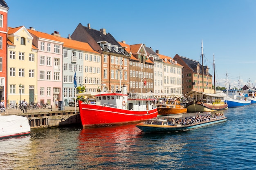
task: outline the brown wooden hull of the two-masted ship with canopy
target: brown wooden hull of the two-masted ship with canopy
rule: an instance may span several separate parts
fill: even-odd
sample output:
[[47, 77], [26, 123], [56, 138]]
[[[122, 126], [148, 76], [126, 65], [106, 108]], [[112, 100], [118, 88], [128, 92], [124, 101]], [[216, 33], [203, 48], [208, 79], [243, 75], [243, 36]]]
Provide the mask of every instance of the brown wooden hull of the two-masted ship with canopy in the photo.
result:
[[228, 104], [206, 104], [201, 102], [190, 102], [186, 106], [188, 112], [213, 112], [228, 108]]

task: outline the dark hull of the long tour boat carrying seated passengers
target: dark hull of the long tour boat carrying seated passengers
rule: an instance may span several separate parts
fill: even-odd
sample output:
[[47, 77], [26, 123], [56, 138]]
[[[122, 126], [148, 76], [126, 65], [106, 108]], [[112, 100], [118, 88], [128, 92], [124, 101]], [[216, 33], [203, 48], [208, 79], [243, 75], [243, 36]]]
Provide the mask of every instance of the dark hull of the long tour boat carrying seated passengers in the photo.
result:
[[194, 128], [200, 128], [200, 127], [208, 126], [212, 124], [218, 124], [224, 121], [227, 121], [226, 117], [222, 119], [217, 119], [217, 120], [212, 120], [212, 121], [207, 121], [207, 122], [202, 122], [202, 123], [192, 124], [187, 126], [170, 126], [170, 125], [158, 126], [158, 125], [146, 125], [146, 124], [137, 124], [135, 126], [139, 128], [142, 132], [146, 132], [146, 133], [177, 132], [177, 131], [190, 130]]

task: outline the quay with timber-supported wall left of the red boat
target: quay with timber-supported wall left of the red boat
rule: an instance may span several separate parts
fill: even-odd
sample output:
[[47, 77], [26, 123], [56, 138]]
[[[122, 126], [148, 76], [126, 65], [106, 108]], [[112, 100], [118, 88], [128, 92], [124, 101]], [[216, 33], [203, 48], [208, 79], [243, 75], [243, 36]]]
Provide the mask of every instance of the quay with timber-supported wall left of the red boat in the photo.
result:
[[[53, 108], [52, 108], [53, 107]], [[20, 109], [6, 109], [0, 115], [18, 115], [27, 117], [31, 129], [53, 128], [59, 126], [81, 125], [79, 107], [65, 106], [63, 108], [27, 109], [23, 113]]]

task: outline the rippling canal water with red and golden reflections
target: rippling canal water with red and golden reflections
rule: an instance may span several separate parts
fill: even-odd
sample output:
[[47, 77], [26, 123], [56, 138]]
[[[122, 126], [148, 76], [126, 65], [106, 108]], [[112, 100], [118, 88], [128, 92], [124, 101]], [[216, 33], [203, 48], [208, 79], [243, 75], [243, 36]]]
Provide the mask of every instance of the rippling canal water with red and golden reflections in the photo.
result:
[[142, 134], [135, 124], [32, 130], [0, 140], [0, 169], [255, 169], [256, 105], [222, 113], [224, 123], [164, 134]]

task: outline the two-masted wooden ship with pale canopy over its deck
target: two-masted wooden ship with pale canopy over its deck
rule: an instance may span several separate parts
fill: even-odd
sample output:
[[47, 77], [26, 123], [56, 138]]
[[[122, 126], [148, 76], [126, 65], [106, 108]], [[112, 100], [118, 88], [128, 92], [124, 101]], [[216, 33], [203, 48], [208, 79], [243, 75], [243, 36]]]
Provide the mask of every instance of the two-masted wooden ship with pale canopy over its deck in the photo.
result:
[[191, 102], [187, 104], [188, 112], [212, 112], [228, 108], [225, 102], [227, 95], [224, 93], [216, 93], [215, 86], [215, 60], [213, 54], [213, 70], [214, 70], [214, 89], [204, 89], [204, 65], [203, 65], [203, 41], [202, 41], [202, 92], [191, 90], [186, 96], [189, 96]]

